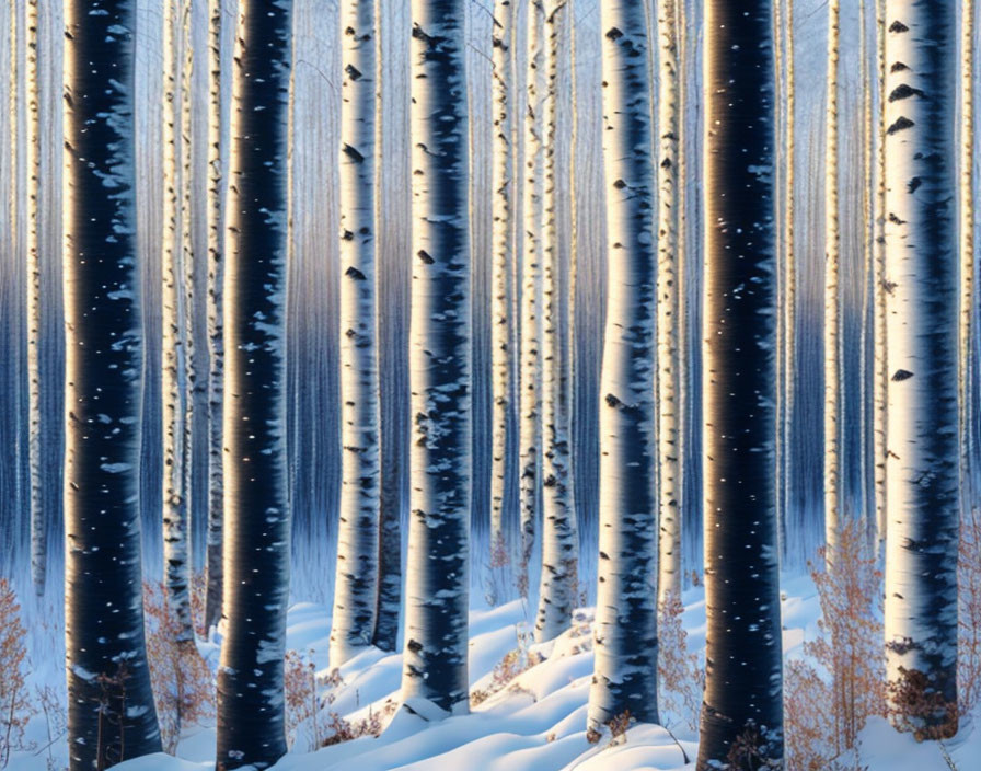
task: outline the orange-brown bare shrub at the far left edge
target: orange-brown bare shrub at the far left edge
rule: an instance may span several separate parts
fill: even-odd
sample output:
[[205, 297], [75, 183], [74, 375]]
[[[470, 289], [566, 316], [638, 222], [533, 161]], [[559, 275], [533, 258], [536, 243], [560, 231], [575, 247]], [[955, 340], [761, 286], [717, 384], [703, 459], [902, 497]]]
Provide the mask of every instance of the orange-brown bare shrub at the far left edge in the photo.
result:
[[24, 748], [24, 727], [33, 714], [24, 682], [26, 635], [16, 595], [0, 578], [0, 769], [7, 768], [15, 749]]

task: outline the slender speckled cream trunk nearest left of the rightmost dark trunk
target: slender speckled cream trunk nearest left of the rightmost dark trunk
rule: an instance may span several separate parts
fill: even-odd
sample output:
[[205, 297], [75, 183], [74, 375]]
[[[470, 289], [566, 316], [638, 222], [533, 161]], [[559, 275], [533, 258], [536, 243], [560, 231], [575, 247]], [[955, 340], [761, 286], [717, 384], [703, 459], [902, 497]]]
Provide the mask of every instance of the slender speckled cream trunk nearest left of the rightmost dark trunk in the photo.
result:
[[660, 163], [657, 232], [657, 347], [658, 391], [658, 605], [667, 608], [681, 599], [681, 405], [679, 326], [681, 272], [679, 271], [678, 148], [681, 137], [678, 80], [678, 18], [674, 0], [661, 2], [657, 21], [658, 133]]

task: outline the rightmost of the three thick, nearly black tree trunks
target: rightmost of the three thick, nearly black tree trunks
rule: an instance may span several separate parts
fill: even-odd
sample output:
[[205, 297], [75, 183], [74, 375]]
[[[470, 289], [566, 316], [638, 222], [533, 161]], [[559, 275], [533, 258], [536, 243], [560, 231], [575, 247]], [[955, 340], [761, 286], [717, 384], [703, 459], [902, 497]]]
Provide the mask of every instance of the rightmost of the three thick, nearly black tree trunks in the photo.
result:
[[783, 762], [770, 3], [706, 4], [706, 680], [699, 769]]

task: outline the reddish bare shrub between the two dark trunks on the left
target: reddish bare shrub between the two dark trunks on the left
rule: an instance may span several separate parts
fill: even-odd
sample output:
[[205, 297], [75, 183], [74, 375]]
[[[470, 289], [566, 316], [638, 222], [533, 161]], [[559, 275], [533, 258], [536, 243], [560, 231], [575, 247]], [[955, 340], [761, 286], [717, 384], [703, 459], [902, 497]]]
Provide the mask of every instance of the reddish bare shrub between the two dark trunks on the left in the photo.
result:
[[165, 751], [173, 753], [185, 725], [215, 715], [215, 677], [194, 641], [178, 643], [180, 626], [162, 583], [143, 585], [147, 659]]

